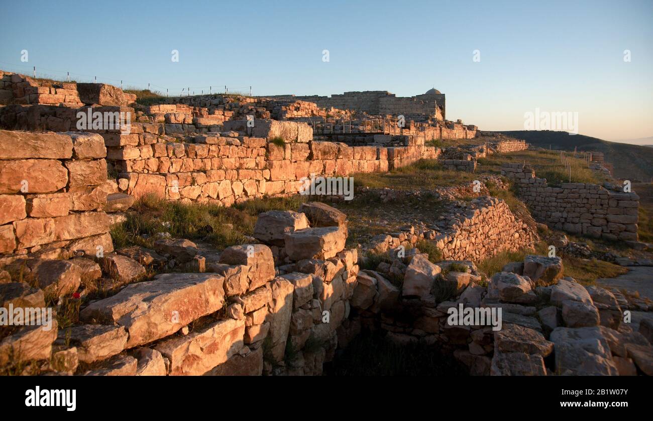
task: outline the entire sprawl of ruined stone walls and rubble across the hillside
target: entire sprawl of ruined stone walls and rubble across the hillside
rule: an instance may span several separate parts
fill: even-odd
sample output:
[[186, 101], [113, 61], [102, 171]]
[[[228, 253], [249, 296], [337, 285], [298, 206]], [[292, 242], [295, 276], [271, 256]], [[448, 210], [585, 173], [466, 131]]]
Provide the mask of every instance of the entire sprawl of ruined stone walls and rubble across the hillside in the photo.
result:
[[[345, 249], [346, 215], [317, 202], [259, 215], [255, 242], [221, 253], [164, 234], [153, 249], [113, 248], [115, 212], [135, 197], [229, 206], [293, 195], [310, 174], [385, 172], [437, 158], [443, 152], [427, 140], [473, 137], [475, 127], [411, 121], [394, 133], [349, 110], [283, 99], [215, 95], [142, 106], [116, 87], [6, 72], [0, 98], [10, 102], [0, 108], [8, 129], [0, 131], [2, 308], [42, 308], [46, 300], [101, 292], [72, 324], [53, 320], [50, 330], [23, 326], [3, 335], [3, 370], [19, 362], [19, 374], [320, 375], [368, 330], [453, 354], [473, 375], [653, 374], [653, 326], [644, 321], [633, 332], [620, 322], [633, 304], [619, 291], [562, 279], [560, 258], [532, 255], [481, 277], [471, 260], [537, 238], [496, 198], [481, 196], [437, 227], [411, 226], [362, 249]], [[131, 130], [77, 129], [77, 113], [89, 105], [129, 112]], [[466, 163], [475, 166], [478, 157], [526, 147], [500, 139], [448, 148], [443, 157], [451, 169], [473, 171]], [[627, 217], [637, 210], [635, 196], [592, 185], [558, 191], [516, 164], [503, 172], [547, 222], [633, 239], [637, 221]], [[538, 203], [548, 198], [542, 193], [555, 195], [556, 204]], [[421, 239], [436, 243], [445, 260], [434, 264], [414, 249]], [[389, 258], [361, 270], [368, 263], [362, 251]], [[180, 272], [142, 281], [164, 265]], [[645, 300], [636, 305], [653, 309]], [[502, 309], [503, 329], [452, 326], [448, 311], [459, 306]]]

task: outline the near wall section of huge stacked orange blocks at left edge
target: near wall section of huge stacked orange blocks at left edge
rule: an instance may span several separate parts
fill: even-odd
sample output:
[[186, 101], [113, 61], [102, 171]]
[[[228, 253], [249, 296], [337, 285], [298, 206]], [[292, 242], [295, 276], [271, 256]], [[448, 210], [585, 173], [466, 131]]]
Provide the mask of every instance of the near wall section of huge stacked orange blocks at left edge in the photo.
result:
[[98, 134], [0, 130], [0, 253], [113, 250]]

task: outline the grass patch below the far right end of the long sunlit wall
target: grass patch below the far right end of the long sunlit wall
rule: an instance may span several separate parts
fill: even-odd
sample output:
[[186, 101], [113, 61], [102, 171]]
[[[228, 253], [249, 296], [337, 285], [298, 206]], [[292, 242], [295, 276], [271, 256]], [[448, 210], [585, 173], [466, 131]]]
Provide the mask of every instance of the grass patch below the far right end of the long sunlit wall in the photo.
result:
[[420, 159], [416, 163], [383, 173], [353, 174], [354, 184], [380, 189], [413, 190], [459, 185], [477, 179], [470, 172], [445, 170], [437, 159]]

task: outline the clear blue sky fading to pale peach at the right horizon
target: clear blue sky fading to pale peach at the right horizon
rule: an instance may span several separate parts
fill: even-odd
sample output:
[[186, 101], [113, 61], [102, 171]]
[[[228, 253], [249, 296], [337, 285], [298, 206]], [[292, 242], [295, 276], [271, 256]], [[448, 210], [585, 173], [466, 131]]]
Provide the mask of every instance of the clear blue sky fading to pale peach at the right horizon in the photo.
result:
[[0, 7], [0, 69], [8, 71], [36, 67], [37, 76], [57, 79], [70, 72], [80, 82], [97, 76], [170, 95], [225, 85], [245, 93], [251, 86], [253, 95], [413, 96], [436, 87], [447, 96], [447, 119], [482, 130], [524, 130], [527, 113], [539, 110], [572, 113], [577, 120], [562, 129], [605, 140], [653, 136], [651, 0]]

